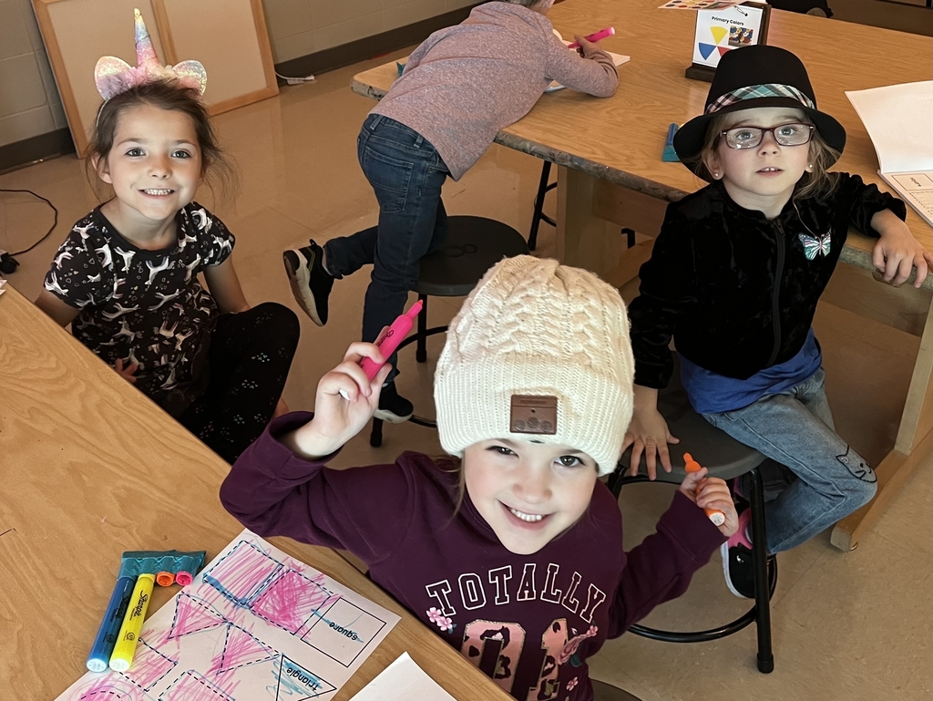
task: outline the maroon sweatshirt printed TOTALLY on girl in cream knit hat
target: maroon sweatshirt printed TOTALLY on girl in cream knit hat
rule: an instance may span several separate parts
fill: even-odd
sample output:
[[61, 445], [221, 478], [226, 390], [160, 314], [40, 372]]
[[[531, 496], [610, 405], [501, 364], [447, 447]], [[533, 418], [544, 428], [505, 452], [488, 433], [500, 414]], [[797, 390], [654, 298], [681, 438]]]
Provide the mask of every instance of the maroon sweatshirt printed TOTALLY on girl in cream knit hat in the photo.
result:
[[276, 440], [287, 414], [246, 449], [220, 488], [260, 536], [349, 550], [369, 576], [517, 699], [590, 701], [586, 659], [683, 594], [725, 538], [677, 492], [657, 533], [622, 550], [619, 506], [596, 483], [590, 509], [535, 554], [509, 553], [456, 472], [405, 453], [392, 465], [330, 470]]

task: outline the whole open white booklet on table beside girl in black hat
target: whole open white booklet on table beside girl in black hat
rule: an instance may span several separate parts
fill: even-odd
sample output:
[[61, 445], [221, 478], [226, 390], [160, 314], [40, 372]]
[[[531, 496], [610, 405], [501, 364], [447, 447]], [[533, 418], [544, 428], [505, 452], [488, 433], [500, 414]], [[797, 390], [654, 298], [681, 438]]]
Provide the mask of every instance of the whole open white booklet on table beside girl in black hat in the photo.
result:
[[878, 153], [878, 173], [933, 226], [933, 80], [845, 93]]

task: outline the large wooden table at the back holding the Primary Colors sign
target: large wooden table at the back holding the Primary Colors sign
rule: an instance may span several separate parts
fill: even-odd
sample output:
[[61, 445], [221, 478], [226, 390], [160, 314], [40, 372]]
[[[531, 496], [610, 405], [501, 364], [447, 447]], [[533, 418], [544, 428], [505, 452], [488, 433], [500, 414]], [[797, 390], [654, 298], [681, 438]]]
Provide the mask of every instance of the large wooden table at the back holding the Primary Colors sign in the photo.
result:
[[[558, 258], [600, 273], [617, 286], [634, 278], [650, 256], [653, 241], [648, 238], [620, 255], [622, 237], [618, 229], [610, 234], [607, 222], [653, 235], [660, 229], [667, 203], [705, 185], [683, 165], [661, 161], [668, 124], [701, 114], [709, 84], [684, 77], [693, 41], [693, 13], [660, 10], [659, 5], [658, 0], [567, 0], [553, 7], [549, 17], [564, 36], [614, 26], [616, 35], [601, 46], [630, 55], [632, 61], [620, 66], [619, 90], [613, 97], [598, 100], [574, 91], [545, 95], [526, 117], [495, 139], [560, 166]], [[845, 127], [848, 140], [836, 169], [858, 173], [888, 189], [877, 175], [878, 161], [868, 133], [844, 91], [929, 79], [933, 39], [775, 10], [768, 40], [801, 57], [820, 108]], [[396, 77], [395, 63], [387, 63], [355, 76], [352, 88], [378, 100]], [[910, 207], [907, 223], [926, 249], [933, 249], [933, 231]], [[863, 278], [870, 277], [873, 243], [868, 236], [850, 231], [842, 251], [842, 261], [862, 271]], [[933, 448], [929, 292], [933, 276], [926, 278], [921, 290], [905, 286], [898, 293], [898, 298], [919, 305], [919, 323], [906, 323], [902, 315], [885, 310], [877, 298], [889, 290], [867, 282], [859, 283], [855, 293], [838, 294], [832, 303], [916, 334], [921, 343], [897, 442], [876, 468], [879, 494], [833, 531], [832, 542], [842, 550], [855, 547], [860, 534]]]

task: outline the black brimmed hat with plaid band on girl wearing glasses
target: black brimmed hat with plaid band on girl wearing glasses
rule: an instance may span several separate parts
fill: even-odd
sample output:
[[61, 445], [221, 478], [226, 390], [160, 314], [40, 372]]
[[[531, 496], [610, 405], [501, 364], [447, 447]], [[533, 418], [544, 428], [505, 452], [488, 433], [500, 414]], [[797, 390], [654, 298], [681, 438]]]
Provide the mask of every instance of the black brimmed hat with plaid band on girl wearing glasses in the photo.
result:
[[845, 147], [842, 124], [816, 109], [814, 89], [801, 60], [787, 49], [756, 45], [732, 49], [719, 59], [704, 113], [690, 119], [674, 135], [677, 157], [695, 175], [709, 180], [703, 163], [691, 161], [703, 150], [710, 121], [726, 112], [753, 107], [800, 109], [829, 147], [840, 153]]

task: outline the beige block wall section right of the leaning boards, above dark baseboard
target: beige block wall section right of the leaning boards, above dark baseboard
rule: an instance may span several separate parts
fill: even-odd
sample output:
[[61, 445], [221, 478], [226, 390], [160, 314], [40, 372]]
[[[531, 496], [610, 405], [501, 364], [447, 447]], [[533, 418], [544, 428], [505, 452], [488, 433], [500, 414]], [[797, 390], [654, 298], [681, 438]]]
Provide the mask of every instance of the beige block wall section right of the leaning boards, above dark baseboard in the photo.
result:
[[275, 63], [348, 44], [478, 0], [262, 0]]

